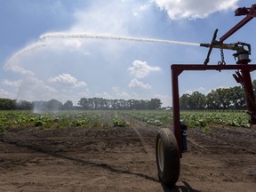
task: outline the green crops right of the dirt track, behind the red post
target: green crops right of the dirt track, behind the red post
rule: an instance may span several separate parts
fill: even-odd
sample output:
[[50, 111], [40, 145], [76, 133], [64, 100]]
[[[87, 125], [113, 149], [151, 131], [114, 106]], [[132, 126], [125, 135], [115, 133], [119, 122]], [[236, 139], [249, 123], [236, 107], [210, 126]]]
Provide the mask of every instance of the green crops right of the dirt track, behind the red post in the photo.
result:
[[[172, 126], [171, 111], [138, 111], [132, 112], [131, 116], [156, 126]], [[209, 111], [182, 111], [180, 120], [190, 128], [207, 128], [212, 124], [228, 125], [234, 127], [249, 128], [249, 116], [241, 112], [209, 112]]]

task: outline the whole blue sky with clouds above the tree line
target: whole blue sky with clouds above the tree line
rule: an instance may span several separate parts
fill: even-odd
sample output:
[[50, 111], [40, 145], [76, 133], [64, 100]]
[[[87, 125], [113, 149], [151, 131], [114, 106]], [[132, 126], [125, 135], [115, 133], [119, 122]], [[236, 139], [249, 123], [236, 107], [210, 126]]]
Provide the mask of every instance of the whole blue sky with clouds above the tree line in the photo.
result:
[[[0, 98], [72, 100], [74, 105], [83, 97], [159, 98], [164, 106], [172, 106], [171, 65], [204, 63], [206, 48], [40, 36], [89, 34], [210, 43], [216, 28], [219, 39], [244, 18], [234, 16], [237, 7], [252, 4], [251, 0], [0, 0]], [[252, 63], [255, 22], [225, 42], [252, 44]], [[235, 63], [233, 53], [225, 51], [227, 63]], [[210, 63], [219, 60], [220, 50], [213, 50]], [[232, 73], [184, 72], [180, 96], [235, 86]]]

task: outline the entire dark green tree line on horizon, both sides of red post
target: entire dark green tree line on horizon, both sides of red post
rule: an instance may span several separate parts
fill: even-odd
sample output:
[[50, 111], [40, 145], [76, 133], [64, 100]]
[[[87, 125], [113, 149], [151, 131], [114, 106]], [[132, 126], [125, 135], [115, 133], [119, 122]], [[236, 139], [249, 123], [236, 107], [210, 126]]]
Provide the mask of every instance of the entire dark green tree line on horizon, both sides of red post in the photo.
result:
[[[252, 81], [254, 95], [256, 95], [256, 80]], [[49, 101], [26, 101], [10, 100], [0, 98], [0, 110], [32, 110], [43, 111], [54, 110], [106, 110], [106, 109], [159, 109], [162, 101], [159, 99], [151, 100], [108, 100], [103, 98], [81, 98], [77, 106], [73, 105], [71, 100], [62, 104], [59, 100]], [[183, 94], [180, 97], [180, 109], [245, 109], [244, 88], [234, 86], [230, 88], [218, 88], [212, 90], [206, 95], [201, 92], [192, 92]]]

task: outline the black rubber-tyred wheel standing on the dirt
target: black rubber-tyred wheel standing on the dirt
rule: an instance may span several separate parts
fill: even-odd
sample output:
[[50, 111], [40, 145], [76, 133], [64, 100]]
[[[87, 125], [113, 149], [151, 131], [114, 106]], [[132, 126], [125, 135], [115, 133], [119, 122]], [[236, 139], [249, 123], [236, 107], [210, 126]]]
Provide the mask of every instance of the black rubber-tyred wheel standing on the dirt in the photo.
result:
[[159, 180], [173, 186], [180, 176], [180, 153], [176, 138], [168, 128], [161, 129], [156, 136], [156, 165]]

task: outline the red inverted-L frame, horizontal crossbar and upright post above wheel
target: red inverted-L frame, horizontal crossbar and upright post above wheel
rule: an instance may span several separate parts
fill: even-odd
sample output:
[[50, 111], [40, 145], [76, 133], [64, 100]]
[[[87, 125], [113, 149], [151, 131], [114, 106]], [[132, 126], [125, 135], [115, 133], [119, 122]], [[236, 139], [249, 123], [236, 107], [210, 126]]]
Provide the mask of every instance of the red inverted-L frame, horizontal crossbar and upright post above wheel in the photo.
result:
[[[178, 146], [180, 149], [180, 158], [182, 157], [182, 141], [181, 141], [181, 129], [180, 129], [180, 97], [179, 97], [179, 76], [183, 71], [186, 70], [241, 70], [249, 71], [256, 70], [256, 64], [250, 65], [204, 65], [204, 64], [172, 64], [171, 71], [172, 71], [172, 116], [173, 116], [173, 132], [175, 134], [175, 138], [178, 142]], [[243, 75], [243, 74], [242, 74]], [[249, 72], [250, 75], [250, 72]], [[249, 81], [251, 81], [251, 76], [247, 76]], [[250, 79], [249, 79], [250, 77]], [[252, 82], [251, 82], [252, 83]], [[248, 89], [248, 88], [246, 88]], [[244, 91], [246, 92], [244, 87]], [[253, 94], [253, 90], [249, 89], [250, 92]], [[246, 95], [246, 93], [245, 93]], [[252, 95], [251, 95], [252, 96]], [[251, 101], [252, 102], [252, 101]], [[254, 96], [253, 96], [254, 102]], [[248, 103], [248, 100], [247, 100]], [[247, 104], [248, 105], [248, 104]], [[254, 105], [253, 105], [254, 109]], [[250, 110], [248, 108], [248, 110]]]

